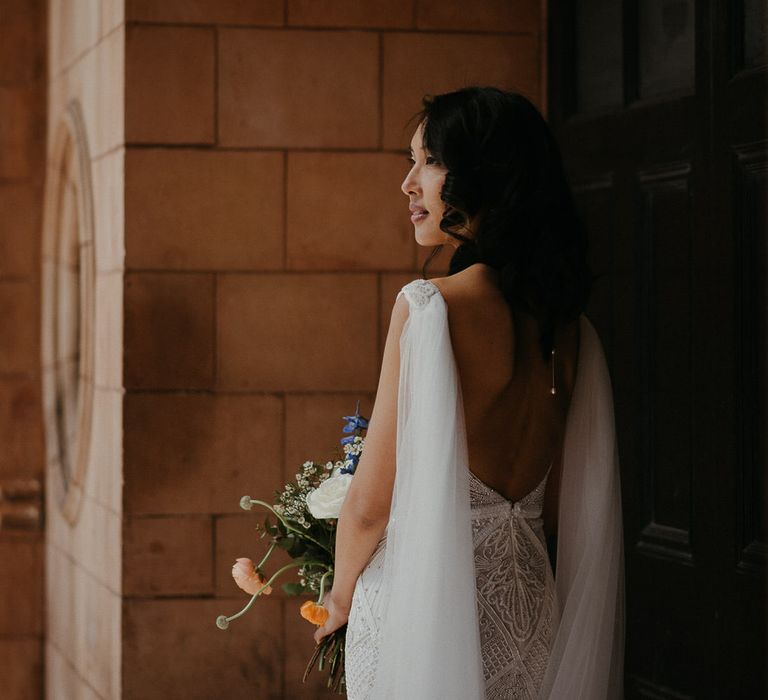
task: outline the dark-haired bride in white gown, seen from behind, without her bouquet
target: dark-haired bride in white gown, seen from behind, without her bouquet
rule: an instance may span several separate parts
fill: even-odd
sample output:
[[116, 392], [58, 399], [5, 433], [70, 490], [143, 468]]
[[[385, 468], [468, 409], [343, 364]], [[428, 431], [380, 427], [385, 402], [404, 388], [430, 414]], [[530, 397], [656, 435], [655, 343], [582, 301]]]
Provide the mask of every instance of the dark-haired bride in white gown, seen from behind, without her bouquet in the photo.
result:
[[613, 400], [558, 148], [496, 88], [418, 116], [416, 241], [455, 250], [397, 294], [315, 640], [347, 624], [351, 700], [620, 698]]

